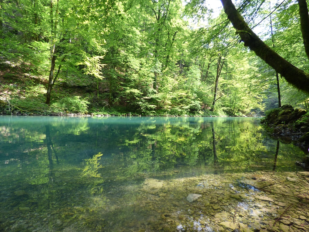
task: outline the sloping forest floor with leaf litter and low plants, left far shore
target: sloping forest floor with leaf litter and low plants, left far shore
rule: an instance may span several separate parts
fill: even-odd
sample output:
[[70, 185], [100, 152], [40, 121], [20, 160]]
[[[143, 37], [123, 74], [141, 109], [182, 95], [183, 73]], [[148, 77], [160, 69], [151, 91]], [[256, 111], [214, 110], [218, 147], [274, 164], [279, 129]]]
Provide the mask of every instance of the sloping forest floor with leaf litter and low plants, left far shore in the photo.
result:
[[[50, 105], [44, 104], [48, 80], [46, 76], [31, 75], [31, 66], [0, 64], [0, 114], [58, 115], [58, 116], [208, 116], [224, 114], [201, 110], [184, 115], [142, 115], [131, 112], [125, 105], [107, 107], [107, 99], [97, 97], [95, 82], [68, 83], [58, 80], [53, 86]], [[100, 89], [102, 95], [106, 91]]]

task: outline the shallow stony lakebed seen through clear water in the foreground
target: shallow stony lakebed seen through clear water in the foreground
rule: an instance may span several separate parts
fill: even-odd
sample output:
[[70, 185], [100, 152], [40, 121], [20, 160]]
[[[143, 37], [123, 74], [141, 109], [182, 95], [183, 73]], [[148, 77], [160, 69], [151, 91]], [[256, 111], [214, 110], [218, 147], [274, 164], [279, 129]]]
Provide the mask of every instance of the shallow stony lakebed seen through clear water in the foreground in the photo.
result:
[[[306, 171], [146, 178], [109, 190], [72, 192], [65, 200], [70, 204], [44, 210], [9, 208], [1, 212], [9, 218], [1, 231], [309, 231]], [[33, 201], [31, 191], [14, 194]]]

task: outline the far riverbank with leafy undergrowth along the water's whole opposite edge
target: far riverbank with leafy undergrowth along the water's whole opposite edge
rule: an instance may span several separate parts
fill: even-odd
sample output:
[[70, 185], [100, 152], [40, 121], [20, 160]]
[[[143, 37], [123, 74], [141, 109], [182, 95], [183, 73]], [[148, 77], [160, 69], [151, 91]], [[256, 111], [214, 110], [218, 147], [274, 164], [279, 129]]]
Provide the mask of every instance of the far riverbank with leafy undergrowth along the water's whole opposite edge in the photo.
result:
[[[2, 115], [115, 115], [115, 116], [254, 116], [251, 111], [233, 110], [228, 113], [220, 101], [214, 112], [210, 110], [211, 99], [193, 101], [187, 93], [177, 96], [171, 90], [173, 99], [157, 92], [150, 97], [141, 95], [134, 100], [124, 96], [113, 96], [109, 101], [106, 81], [76, 79], [70, 81], [59, 76], [51, 92], [50, 104], [44, 104], [48, 77], [36, 74], [31, 66], [0, 62], [0, 114]], [[104, 84], [105, 83], [105, 84]], [[124, 90], [122, 90], [124, 91]], [[175, 95], [175, 96], [174, 96]], [[161, 96], [158, 97], [158, 96]], [[160, 98], [159, 100], [157, 98]], [[223, 98], [220, 98], [222, 100]], [[192, 103], [193, 102], [193, 103]], [[208, 103], [205, 103], [208, 102]], [[233, 108], [234, 109], [234, 108]], [[259, 110], [258, 110], [259, 111]]]

